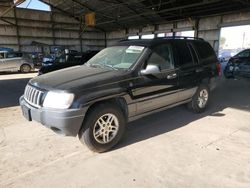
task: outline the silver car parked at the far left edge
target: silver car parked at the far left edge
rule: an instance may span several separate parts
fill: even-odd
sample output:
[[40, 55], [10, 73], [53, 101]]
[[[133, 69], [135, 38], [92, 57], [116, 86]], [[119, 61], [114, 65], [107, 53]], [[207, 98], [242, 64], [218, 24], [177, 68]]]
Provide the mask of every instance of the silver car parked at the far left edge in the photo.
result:
[[22, 52], [0, 51], [0, 72], [20, 71], [28, 73], [34, 64], [23, 57]]

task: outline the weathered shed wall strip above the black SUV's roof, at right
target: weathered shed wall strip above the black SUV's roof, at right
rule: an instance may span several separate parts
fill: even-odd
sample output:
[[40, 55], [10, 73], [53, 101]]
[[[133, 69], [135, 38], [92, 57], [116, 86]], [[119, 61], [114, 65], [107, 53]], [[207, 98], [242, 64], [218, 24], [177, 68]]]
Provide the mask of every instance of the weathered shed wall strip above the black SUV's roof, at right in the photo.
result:
[[217, 52], [219, 49], [220, 29], [225, 26], [250, 25], [250, 13], [241, 12], [221, 16], [211, 16], [199, 20], [183, 20], [169, 22], [157, 26], [147, 26], [129, 28], [127, 31], [119, 30], [107, 34], [107, 45], [116, 43], [118, 40], [125, 39], [131, 35], [157, 34], [195, 30], [196, 36], [207, 40]]

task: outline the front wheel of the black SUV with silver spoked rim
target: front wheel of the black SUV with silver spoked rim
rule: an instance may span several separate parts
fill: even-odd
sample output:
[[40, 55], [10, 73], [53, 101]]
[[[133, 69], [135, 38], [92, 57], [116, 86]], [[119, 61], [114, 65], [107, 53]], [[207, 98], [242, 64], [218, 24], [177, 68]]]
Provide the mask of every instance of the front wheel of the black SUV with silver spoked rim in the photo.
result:
[[[102, 124], [101, 127], [101, 123], [105, 125]], [[126, 121], [122, 111], [114, 104], [103, 103], [88, 113], [78, 137], [90, 150], [102, 153], [110, 150], [121, 140], [125, 126]]]

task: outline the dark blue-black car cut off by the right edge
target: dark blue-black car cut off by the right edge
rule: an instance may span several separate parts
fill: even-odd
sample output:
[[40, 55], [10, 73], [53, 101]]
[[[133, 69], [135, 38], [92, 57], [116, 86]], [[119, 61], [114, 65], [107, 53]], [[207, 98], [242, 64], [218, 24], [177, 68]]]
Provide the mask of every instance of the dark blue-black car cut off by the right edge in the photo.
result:
[[250, 49], [246, 49], [229, 59], [224, 75], [226, 78], [250, 78]]

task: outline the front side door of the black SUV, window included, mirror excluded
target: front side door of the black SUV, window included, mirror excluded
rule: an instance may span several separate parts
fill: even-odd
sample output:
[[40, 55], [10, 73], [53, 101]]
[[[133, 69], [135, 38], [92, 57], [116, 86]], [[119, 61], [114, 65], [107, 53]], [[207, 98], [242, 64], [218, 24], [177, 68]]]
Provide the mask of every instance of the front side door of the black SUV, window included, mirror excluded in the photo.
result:
[[137, 103], [137, 115], [157, 110], [178, 101], [177, 71], [171, 44], [156, 46], [145, 65], [157, 65], [159, 73], [141, 75], [131, 90], [132, 98]]

